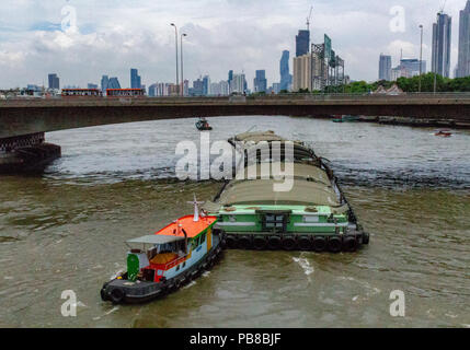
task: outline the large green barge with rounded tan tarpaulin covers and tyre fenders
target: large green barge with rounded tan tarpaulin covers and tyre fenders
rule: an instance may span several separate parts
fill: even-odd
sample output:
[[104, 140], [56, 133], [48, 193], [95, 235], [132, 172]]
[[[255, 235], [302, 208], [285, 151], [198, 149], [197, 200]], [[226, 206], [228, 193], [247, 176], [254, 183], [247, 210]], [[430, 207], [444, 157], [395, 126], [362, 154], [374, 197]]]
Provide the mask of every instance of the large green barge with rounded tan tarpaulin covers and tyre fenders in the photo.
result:
[[[286, 140], [273, 131], [244, 132], [229, 140], [243, 153], [236, 176], [227, 180], [204, 210], [218, 218], [216, 228], [227, 235], [227, 246], [238, 249], [286, 249], [331, 253], [355, 252], [368, 244], [369, 235], [357, 223], [329, 161], [301, 141]], [[260, 142], [268, 151], [260, 151]], [[280, 143], [280, 159], [273, 158]], [[293, 182], [288, 191], [275, 191], [275, 168], [293, 145]], [[251, 161], [255, 160], [255, 161]], [[268, 177], [263, 166], [271, 166]], [[249, 177], [248, 174], [255, 174]]]

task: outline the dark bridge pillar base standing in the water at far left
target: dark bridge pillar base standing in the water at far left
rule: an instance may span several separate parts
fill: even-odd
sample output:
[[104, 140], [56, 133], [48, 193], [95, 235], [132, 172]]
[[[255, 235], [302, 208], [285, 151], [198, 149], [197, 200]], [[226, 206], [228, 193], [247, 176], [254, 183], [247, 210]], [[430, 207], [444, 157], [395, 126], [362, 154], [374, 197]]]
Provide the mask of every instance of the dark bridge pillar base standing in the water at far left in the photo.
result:
[[44, 132], [0, 139], [0, 174], [42, 172], [60, 156], [60, 147], [46, 143]]

